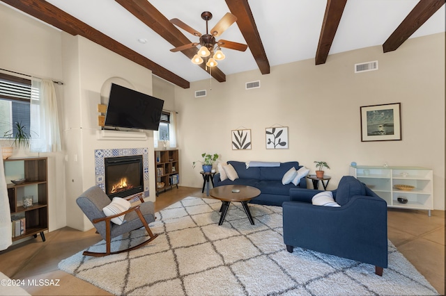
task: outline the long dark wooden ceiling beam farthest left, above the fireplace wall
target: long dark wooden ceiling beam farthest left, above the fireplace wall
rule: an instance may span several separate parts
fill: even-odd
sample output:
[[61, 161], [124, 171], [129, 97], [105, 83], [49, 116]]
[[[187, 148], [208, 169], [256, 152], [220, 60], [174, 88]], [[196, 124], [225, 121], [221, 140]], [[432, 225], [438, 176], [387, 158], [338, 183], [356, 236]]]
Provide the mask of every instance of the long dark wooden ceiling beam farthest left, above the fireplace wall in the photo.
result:
[[63, 10], [57, 8], [51, 3], [44, 0], [0, 0], [7, 3], [22, 12], [32, 15], [41, 21], [55, 26], [71, 35], [81, 35], [106, 49], [114, 51], [116, 54], [132, 60], [147, 69], [150, 69], [156, 76], [161, 77], [171, 83], [174, 83], [181, 88], [190, 88], [189, 81], [181, 78], [180, 76], [170, 72], [168, 69], [161, 67], [157, 63], [149, 60], [148, 58], [138, 54], [136, 51], [125, 47], [123, 44], [116, 40], [109, 38], [107, 35], [101, 33], [95, 28], [85, 24], [79, 19], [69, 15]]

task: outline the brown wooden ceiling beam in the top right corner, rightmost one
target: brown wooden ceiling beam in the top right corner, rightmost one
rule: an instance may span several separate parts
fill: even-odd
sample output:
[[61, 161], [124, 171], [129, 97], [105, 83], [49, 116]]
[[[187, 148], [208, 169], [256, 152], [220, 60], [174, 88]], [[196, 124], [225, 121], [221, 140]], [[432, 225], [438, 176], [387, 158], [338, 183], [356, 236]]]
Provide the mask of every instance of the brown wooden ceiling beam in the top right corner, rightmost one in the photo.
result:
[[394, 51], [403, 44], [415, 31], [422, 26], [446, 0], [420, 0], [407, 17], [399, 24], [398, 28], [383, 44], [383, 51]]

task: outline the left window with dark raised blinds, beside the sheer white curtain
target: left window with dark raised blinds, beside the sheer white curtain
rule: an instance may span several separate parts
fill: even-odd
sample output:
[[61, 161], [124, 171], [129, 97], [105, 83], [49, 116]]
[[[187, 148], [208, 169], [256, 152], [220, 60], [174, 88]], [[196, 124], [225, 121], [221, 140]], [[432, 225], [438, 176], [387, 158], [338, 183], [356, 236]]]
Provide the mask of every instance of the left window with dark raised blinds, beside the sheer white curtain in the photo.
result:
[[[21, 122], [30, 131], [31, 80], [0, 73], [0, 138]], [[15, 128], [13, 133], [15, 134]]]

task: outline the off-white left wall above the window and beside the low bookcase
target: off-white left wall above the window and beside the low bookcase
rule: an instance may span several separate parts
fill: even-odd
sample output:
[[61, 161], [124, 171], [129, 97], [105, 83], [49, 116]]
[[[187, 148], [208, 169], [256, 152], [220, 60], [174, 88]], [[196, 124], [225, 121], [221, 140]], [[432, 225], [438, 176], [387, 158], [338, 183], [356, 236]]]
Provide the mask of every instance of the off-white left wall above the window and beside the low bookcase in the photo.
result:
[[[0, 32], [0, 68], [63, 81], [60, 31], [0, 5]], [[64, 86], [55, 85], [55, 88], [59, 103], [63, 99]], [[58, 108], [62, 110], [60, 104]], [[24, 153], [38, 156], [29, 151]], [[40, 156], [48, 157], [49, 231], [53, 231], [66, 226], [63, 151]]]

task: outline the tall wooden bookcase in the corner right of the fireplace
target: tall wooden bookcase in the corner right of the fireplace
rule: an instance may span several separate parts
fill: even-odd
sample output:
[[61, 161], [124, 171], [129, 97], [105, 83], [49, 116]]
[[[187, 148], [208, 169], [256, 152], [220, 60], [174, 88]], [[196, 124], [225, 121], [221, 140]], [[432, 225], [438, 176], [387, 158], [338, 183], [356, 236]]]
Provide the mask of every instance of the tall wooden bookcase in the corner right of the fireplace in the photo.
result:
[[[180, 181], [178, 149], [155, 151], [156, 195], [174, 186]], [[159, 187], [158, 184], [164, 183]]]

